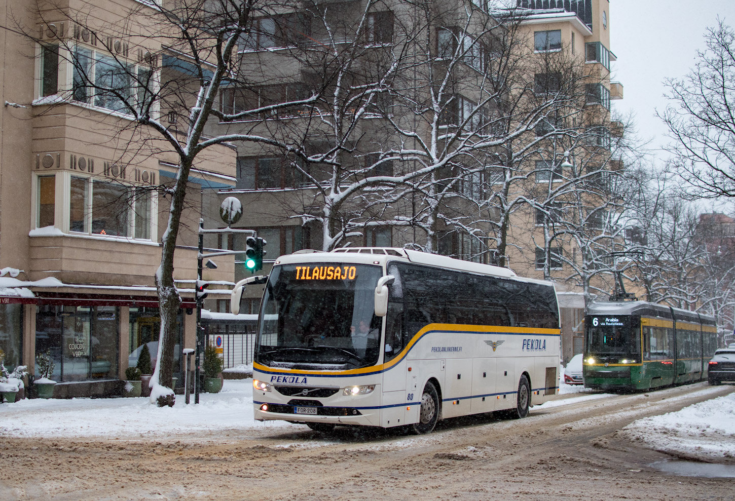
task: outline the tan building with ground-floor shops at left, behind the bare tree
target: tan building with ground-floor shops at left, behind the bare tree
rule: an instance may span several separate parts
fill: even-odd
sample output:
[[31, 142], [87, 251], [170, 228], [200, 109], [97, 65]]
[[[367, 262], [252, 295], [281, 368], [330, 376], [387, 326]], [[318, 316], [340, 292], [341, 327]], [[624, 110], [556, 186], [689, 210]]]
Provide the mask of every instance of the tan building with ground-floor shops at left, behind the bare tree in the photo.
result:
[[[154, 274], [171, 203], [160, 187], [175, 178], [178, 162], [153, 131], [135, 126], [121, 95], [140, 97], [154, 88], [140, 82], [175, 79], [190, 63], [167, 51], [151, 24], [155, 1], [6, 0], [3, 7], [4, 364], [26, 365], [37, 375], [36, 356], [50, 353], [55, 397], [115, 394], [129, 359], [158, 339]], [[178, 133], [175, 110], [157, 104], [150, 112], [169, 116]], [[183, 299], [177, 353], [195, 344], [202, 193], [234, 185], [234, 149], [212, 152], [190, 175], [176, 250], [174, 278]], [[204, 278], [231, 281], [232, 259], [218, 265]]]

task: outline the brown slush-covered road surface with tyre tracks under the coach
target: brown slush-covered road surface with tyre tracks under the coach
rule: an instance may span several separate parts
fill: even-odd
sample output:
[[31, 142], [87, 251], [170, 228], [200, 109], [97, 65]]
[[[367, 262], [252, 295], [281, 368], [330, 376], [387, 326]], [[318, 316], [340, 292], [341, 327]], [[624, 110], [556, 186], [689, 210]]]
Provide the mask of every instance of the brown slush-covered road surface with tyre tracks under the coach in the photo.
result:
[[447, 419], [426, 436], [304, 427], [158, 441], [6, 439], [0, 500], [724, 500], [731, 480], [657, 472], [648, 464], [665, 456], [616, 431], [733, 391], [695, 383], [571, 397], [526, 419]]

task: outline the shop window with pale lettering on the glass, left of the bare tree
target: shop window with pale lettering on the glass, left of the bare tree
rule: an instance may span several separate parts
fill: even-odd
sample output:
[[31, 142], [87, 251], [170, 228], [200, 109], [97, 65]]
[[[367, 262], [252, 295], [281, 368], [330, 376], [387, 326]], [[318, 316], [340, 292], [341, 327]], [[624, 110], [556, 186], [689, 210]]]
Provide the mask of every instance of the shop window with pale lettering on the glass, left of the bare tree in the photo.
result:
[[38, 305], [35, 354], [51, 354], [55, 381], [118, 378], [118, 317], [115, 306]]

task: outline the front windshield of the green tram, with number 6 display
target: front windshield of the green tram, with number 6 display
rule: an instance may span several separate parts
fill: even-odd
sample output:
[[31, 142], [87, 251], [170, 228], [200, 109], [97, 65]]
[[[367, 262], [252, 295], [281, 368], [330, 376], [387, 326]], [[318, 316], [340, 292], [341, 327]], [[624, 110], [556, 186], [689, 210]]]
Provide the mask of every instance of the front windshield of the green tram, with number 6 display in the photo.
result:
[[585, 353], [593, 356], [628, 358], [640, 361], [640, 331], [638, 317], [625, 315], [588, 315]]

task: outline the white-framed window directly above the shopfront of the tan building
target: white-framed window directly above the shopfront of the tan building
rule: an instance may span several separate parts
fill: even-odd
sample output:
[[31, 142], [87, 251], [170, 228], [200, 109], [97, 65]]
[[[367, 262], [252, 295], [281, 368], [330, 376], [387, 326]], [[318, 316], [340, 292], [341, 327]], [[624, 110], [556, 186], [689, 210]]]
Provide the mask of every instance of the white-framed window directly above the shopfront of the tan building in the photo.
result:
[[154, 205], [146, 188], [72, 176], [69, 231], [150, 240]]

